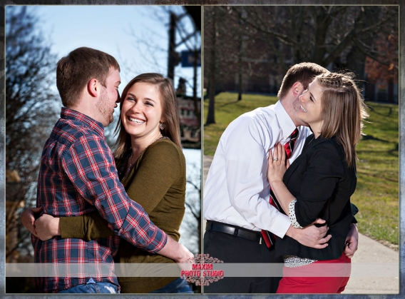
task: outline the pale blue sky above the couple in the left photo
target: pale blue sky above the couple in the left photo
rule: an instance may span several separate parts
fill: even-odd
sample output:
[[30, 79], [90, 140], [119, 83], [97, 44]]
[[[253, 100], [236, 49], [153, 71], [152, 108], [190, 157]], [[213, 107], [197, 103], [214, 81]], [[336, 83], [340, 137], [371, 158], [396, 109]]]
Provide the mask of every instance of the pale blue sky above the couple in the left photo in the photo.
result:
[[[39, 16], [41, 30], [49, 37], [58, 58], [80, 46], [105, 51], [116, 57], [121, 65], [121, 87], [131, 78], [145, 72], [167, 76], [168, 10], [182, 14], [181, 6], [31, 6]], [[185, 28], [193, 28], [186, 16]], [[179, 36], [178, 36], [179, 39]], [[177, 51], [186, 50], [178, 46]], [[193, 68], [177, 66], [178, 78], [186, 78], [188, 95], [192, 95]], [[200, 68], [198, 68], [200, 91]]]

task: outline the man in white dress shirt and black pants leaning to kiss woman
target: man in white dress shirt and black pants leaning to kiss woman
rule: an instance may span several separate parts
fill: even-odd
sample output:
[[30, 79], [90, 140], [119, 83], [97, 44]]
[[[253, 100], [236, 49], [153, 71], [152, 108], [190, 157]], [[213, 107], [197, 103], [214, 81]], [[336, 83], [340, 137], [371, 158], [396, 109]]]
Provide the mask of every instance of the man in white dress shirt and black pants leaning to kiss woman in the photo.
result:
[[[267, 182], [270, 148], [289, 141], [295, 128], [299, 136], [289, 163], [301, 153], [311, 131], [295, 116], [298, 97], [314, 76], [325, 71], [312, 63], [292, 66], [277, 94], [280, 101], [239, 116], [222, 134], [204, 188], [204, 253], [224, 263], [282, 263], [282, 258], [275, 258], [274, 246], [267, 248], [262, 240], [262, 229], [276, 238], [289, 235], [309, 247], [327, 246], [331, 238], [327, 226], [292, 228], [289, 218], [270, 205]], [[357, 250], [357, 228], [353, 228], [348, 242], [347, 255], [352, 255]], [[206, 286], [204, 293], [275, 293], [279, 280], [225, 277]]]

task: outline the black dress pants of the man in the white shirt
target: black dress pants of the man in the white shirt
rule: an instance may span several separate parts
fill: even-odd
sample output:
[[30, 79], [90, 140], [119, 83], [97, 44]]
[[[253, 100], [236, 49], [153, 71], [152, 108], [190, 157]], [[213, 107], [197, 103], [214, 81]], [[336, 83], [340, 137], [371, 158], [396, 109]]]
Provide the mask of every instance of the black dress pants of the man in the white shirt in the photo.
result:
[[[227, 233], [206, 230], [204, 253], [224, 263], [284, 263], [264, 244]], [[270, 266], [270, 265], [269, 265]], [[204, 286], [204, 293], [276, 293], [281, 277], [224, 277]]]

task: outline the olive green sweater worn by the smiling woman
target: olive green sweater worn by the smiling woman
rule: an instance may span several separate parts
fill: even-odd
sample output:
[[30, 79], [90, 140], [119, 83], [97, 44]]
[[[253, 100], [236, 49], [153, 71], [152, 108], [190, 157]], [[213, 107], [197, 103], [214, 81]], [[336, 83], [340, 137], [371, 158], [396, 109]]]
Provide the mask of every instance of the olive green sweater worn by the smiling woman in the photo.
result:
[[[116, 161], [117, 169], [127, 160]], [[179, 240], [180, 223], [185, 212], [185, 158], [183, 151], [170, 139], [155, 141], [138, 158], [130, 172], [121, 178], [128, 196], [142, 206], [150, 221], [174, 240]], [[62, 238], [91, 240], [114, 235], [98, 212], [60, 220]], [[135, 248], [121, 239], [116, 261], [119, 263], [174, 263], [163, 255]], [[175, 277], [121, 277], [121, 293], [150, 293], [162, 288]]]

